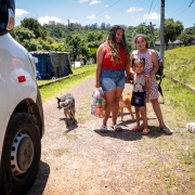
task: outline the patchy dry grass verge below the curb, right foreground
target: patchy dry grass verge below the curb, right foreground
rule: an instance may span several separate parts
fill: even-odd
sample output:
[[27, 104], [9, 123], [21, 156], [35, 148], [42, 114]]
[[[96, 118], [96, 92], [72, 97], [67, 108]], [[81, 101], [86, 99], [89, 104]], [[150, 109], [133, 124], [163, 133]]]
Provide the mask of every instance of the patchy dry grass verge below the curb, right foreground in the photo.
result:
[[[150, 121], [151, 134], [142, 139], [144, 142], [136, 142], [140, 155], [147, 159], [139, 170], [146, 174], [150, 172], [147, 179], [152, 195], [159, 192], [166, 195], [195, 195], [195, 133], [185, 128], [187, 122], [195, 121], [195, 94], [167, 78], [162, 79], [161, 87], [165, 94], [165, 104], [160, 104], [164, 119], [174, 133], [160, 136], [156, 131], [157, 120]], [[148, 109], [148, 116], [153, 116], [151, 105]]]

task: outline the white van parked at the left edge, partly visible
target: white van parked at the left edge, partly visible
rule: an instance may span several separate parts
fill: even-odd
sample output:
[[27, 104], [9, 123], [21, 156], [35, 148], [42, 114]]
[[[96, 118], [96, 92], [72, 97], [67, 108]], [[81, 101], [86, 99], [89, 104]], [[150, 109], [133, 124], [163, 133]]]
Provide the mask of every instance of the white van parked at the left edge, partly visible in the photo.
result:
[[25, 194], [39, 170], [44, 133], [36, 66], [9, 34], [14, 0], [0, 0], [0, 194]]

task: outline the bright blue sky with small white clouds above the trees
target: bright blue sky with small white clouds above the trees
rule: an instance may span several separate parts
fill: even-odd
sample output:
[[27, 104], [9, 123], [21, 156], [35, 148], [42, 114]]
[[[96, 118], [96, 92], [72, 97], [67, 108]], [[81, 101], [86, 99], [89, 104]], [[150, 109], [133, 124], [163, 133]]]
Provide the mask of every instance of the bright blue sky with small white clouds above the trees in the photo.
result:
[[[165, 0], [165, 18], [183, 23], [184, 28], [195, 24], [195, 1]], [[37, 18], [41, 24], [49, 21], [82, 26], [98, 23], [138, 26], [152, 22], [160, 26], [161, 0], [15, 0], [16, 26], [25, 17]]]

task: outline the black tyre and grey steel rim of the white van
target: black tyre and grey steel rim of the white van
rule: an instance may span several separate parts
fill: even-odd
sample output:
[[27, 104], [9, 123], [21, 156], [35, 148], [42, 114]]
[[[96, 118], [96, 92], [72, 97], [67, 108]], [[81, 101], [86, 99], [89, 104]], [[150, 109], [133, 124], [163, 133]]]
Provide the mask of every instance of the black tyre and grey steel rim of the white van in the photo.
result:
[[26, 113], [15, 113], [9, 122], [2, 151], [6, 192], [25, 194], [32, 185], [40, 161], [38, 126]]

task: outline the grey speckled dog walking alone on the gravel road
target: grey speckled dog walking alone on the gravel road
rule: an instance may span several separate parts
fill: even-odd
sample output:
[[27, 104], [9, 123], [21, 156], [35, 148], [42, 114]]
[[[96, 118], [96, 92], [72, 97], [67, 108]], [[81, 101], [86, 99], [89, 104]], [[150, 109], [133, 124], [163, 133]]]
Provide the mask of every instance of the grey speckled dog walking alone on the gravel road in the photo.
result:
[[57, 108], [58, 109], [64, 108], [66, 127], [69, 127], [68, 117], [70, 120], [73, 120], [74, 123], [76, 122], [76, 119], [75, 119], [75, 112], [76, 112], [75, 99], [74, 99], [73, 94], [70, 94], [70, 93], [66, 93], [62, 98], [56, 98], [56, 99], [57, 99]]

